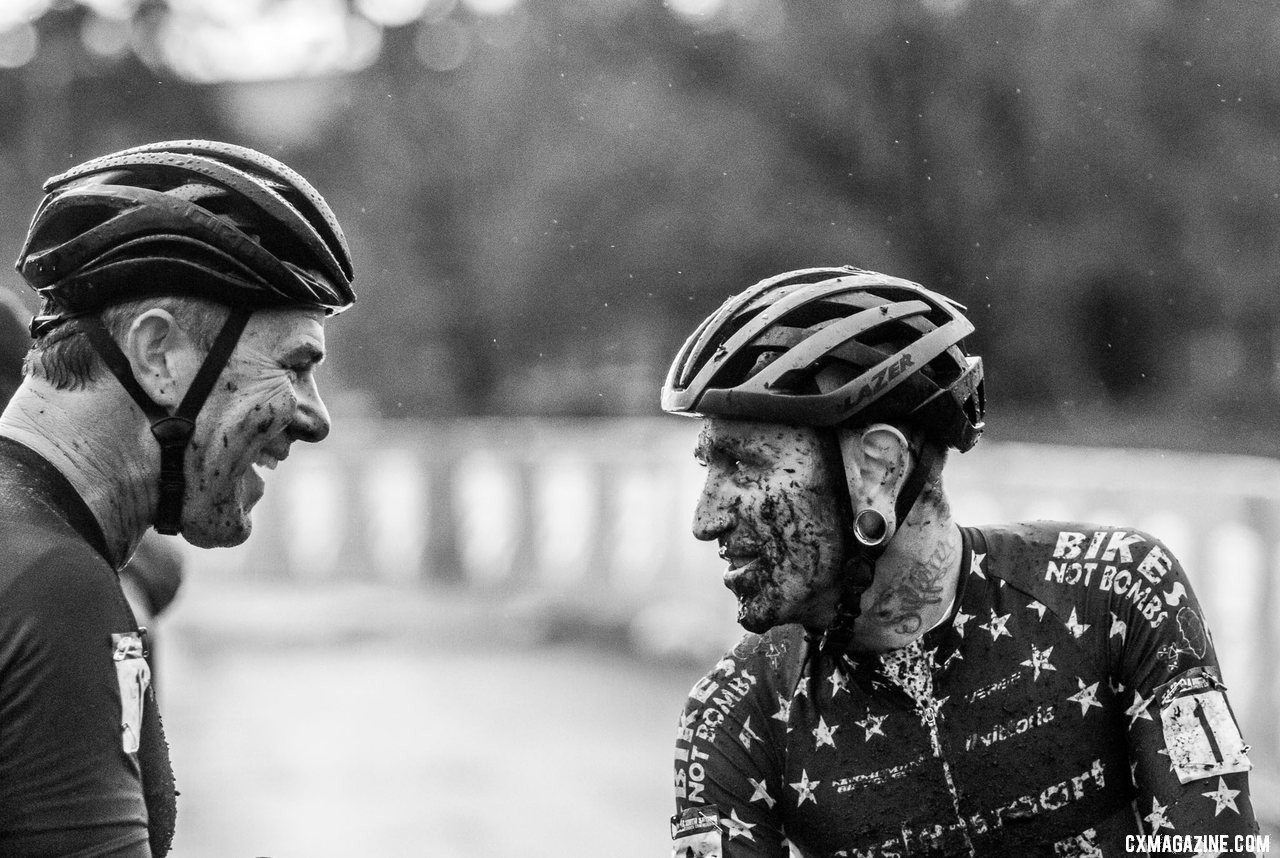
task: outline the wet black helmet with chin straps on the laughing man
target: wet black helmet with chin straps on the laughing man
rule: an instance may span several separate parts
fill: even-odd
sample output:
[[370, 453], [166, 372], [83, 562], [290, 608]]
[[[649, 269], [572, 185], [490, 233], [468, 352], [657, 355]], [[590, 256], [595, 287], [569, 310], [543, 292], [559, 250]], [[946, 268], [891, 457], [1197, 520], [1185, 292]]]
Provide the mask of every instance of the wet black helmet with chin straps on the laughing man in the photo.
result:
[[[195, 419], [262, 307], [340, 312], [356, 301], [347, 239], [324, 198], [261, 152], [204, 140], [134, 146], [45, 182], [18, 256], [42, 298], [31, 334], [78, 319], [102, 361], [143, 412], [161, 446], [156, 530], [178, 533], [183, 457]], [[99, 316], [134, 298], [205, 298], [232, 312], [174, 412], [138, 385]]]

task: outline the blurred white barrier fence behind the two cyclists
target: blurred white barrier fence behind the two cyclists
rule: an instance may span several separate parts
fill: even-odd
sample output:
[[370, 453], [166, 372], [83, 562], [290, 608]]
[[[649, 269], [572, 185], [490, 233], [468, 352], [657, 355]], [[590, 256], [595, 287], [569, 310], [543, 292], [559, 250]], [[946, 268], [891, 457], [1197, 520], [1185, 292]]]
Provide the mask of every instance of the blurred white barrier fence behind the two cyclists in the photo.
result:
[[[241, 548], [192, 574], [367, 579], [563, 599], [628, 617], [657, 649], [735, 635], [713, 546], [690, 535], [692, 420], [344, 424], [294, 446]], [[984, 442], [947, 465], [964, 524], [1065, 519], [1148, 530], [1181, 560], [1280, 822], [1280, 461]]]

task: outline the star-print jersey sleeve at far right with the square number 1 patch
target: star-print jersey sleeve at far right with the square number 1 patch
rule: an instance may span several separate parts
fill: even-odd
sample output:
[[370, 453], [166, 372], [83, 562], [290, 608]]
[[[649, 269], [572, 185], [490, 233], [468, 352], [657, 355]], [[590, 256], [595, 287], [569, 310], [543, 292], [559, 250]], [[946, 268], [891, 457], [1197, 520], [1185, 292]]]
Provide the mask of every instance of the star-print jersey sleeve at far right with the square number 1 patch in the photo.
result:
[[[1149, 539], [1111, 601], [1111, 671], [1128, 703], [1137, 811], [1149, 834], [1253, 834], [1248, 747], [1181, 565]], [[1234, 839], [1229, 839], [1233, 841]]]

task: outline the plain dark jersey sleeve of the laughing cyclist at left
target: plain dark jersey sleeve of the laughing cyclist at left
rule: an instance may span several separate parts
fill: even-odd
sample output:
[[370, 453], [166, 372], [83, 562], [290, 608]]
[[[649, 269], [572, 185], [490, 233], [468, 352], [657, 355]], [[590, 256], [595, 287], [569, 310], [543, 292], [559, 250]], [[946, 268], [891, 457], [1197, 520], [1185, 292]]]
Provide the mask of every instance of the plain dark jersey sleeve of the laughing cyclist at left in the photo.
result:
[[150, 855], [148, 671], [113, 571], [54, 549], [0, 598], [0, 854]]

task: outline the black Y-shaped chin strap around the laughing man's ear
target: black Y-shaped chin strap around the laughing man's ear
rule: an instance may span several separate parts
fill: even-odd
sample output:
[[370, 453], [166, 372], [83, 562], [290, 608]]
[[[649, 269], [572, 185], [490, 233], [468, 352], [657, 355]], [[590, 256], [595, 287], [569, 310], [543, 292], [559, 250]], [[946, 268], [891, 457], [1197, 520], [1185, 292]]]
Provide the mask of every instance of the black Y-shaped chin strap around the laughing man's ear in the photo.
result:
[[227, 361], [236, 350], [236, 343], [239, 342], [252, 312], [244, 307], [232, 307], [230, 315], [223, 323], [223, 329], [218, 332], [204, 364], [196, 371], [196, 378], [192, 379], [191, 387], [187, 388], [186, 396], [182, 397], [182, 402], [178, 403], [173, 414], [147, 396], [147, 392], [138, 384], [128, 357], [120, 351], [119, 344], [102, 324], [102, 319], [96, 315], [82, 319], [90, 343], [93, 344], [111, 374], [142, 409], [147, 420], [151, 421], [151, 434], [160, 443], [159, 501], [154, 522], [159, 533], [173, 535], [182, 530], [182, 499], [187, 488], [183, 464], [191, 437], [196, 430], [196, 415], [200, 414], [205, 400], [214, 389], [214, 383], [223, 368], [227, 366]]

